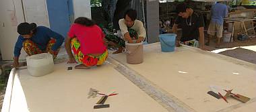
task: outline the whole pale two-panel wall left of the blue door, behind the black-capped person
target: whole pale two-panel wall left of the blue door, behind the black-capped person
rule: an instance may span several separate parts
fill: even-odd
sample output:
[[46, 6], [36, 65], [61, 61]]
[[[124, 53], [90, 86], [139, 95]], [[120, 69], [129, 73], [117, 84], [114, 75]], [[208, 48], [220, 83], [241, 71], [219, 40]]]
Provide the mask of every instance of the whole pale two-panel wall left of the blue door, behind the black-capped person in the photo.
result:
[[[22, 8], [24, 2], [24, 10]], [[49, 26], [45, 0], [0, 0], [0, 48], [3, 60], [13, 60], [13, 48], [18, 39], [17, 26], [27, 22]], [[20, 60], [25, 60], [22, 50]]]

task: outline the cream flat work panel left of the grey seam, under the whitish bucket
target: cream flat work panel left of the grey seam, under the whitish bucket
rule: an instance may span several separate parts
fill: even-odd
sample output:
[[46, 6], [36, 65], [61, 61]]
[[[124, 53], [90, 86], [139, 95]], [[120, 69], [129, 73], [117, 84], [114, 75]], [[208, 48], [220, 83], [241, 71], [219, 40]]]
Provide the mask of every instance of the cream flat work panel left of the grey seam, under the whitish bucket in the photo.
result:
[[[13, 81], [10, 111], [167, 111], [109, 63], [90, 70], [67, 70], [68, 66], [74, 64], [55, 64], [55, 71], [42, 77], [30, 76], [26, 69], [17, 70]], [[88, 99], [90, 88], [101, 93], [116, 91], [119, 95], [108, 97], [105, 103], [110, 104], [110, 108], [93, 109], [100, 97]]]

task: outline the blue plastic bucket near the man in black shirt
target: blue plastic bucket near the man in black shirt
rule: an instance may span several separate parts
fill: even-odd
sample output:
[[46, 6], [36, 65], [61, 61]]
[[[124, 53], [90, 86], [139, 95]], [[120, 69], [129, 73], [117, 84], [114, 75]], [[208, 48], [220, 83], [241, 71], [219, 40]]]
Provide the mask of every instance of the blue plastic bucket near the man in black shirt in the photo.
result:
[[161, 34], [159, 40], [162, 52], [173, 52], [177, 34]]

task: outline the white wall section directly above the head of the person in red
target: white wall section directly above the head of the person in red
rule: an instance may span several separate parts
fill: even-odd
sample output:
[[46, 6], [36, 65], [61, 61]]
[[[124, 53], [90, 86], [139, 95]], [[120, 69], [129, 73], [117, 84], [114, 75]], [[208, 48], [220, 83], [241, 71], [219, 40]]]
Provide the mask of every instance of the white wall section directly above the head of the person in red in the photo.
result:
[[73, 0], [74, 17], [91, 17], [90, 0]]

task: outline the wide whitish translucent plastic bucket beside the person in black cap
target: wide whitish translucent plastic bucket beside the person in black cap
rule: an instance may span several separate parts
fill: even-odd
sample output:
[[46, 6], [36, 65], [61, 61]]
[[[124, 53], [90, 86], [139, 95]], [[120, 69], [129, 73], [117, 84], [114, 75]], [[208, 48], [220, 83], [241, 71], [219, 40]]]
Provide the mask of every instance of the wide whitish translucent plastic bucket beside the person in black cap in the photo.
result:
[[28, 72], [32, 76], [44, 76], [53, 72], [53, 55], [49, 53], [27, 56]]

